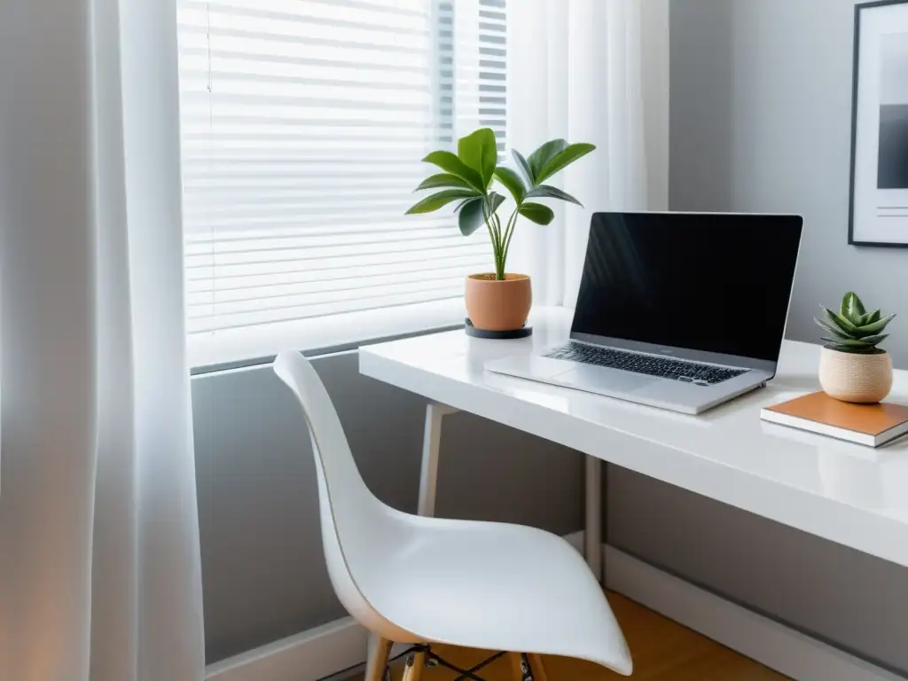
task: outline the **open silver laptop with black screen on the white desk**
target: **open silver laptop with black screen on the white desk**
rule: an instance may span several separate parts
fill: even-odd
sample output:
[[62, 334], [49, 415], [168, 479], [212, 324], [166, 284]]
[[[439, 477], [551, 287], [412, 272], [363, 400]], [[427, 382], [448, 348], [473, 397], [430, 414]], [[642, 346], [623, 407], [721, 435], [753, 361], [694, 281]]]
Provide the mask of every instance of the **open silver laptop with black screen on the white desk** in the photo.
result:
[[597, 212], [570, 340], [486, 369], [698, 414], [775, 376], [804, 221]]

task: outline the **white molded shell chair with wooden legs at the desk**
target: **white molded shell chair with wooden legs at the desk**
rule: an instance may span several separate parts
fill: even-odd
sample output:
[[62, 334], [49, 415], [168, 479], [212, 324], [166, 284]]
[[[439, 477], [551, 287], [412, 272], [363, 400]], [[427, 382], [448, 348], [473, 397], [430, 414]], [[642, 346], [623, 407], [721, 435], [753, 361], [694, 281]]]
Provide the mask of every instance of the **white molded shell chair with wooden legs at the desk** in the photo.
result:
[[[386, 506], [360, 478], [311, 364], [287, 351], [274, 371], [309, 426], [331, 584], [372, 634], [366, 681], [385, 675], [392, 642], [414, 645], [406, 681], [419, 681], [427, 659], [447, 665], [433, 643], [513, 651], [523, 679], [534, 672], [537, 681], [545, 678], [539, 655], [630, 675], [627, 643], [602, 588], [566, 541], [536, 528], [424, 518]], [[479, 679], [477, 670], [458, 671]]]

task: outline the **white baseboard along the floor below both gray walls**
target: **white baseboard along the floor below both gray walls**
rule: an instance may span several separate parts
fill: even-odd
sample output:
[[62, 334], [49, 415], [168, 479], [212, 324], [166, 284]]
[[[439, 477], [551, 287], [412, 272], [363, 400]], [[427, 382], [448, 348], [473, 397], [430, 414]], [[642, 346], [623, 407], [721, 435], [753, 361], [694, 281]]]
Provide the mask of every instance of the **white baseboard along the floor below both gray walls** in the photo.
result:
[[[578, 551], [583, 532], [565, 537]], [[882, 667], [758, 615], [604, 545], [606, 586], [797, 681], [904, 681]], [[365, 662], [350, 617], [208, 666], [207, 681], [319, 681]]]

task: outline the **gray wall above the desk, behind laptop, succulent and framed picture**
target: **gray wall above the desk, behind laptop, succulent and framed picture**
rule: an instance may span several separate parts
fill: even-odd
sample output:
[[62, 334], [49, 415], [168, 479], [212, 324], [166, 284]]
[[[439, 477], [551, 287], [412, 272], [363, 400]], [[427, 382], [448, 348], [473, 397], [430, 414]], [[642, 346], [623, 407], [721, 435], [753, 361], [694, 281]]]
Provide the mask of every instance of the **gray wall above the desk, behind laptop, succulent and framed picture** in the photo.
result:
[[669, 205], [803, 214], [788, 335], [854, 290], [908, 368], [908, 250], [847, 243], [853, 31], [852, 0], [672, 0]]

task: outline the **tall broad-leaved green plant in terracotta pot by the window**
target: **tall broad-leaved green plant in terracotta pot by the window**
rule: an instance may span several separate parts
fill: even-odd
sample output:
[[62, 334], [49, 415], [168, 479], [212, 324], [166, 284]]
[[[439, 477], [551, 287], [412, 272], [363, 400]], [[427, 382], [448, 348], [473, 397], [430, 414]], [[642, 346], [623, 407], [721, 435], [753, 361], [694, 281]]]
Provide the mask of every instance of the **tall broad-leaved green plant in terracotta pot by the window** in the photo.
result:
[[[457, 153], [432, 152], [423, 159], [444, 172], [429, 176], [414, 191], [439, 191], [416, 203], [407, 214], [438, 211], [457, 202], [454, 212], [464, 236], [483, 225], [489, 232], [495, 271], [470, 274], [466, 283], [467, 314], [477, 329], [513, 331], [526, 323], [532, 303], [529, 277], [507, 271], [508, 250], [518, 217], [543, 225], [552, 222], [555, 217], [552, 209], [532, 199], [558, 199], [581, 205], [573, 196], [546, 181], [595, 148], [592, 144], [551, 140], [526, 158], [514, 150], [515, 170], [498, 165], [495, 133], [490, 128], [480, 128], [458, 140]], [[493, 180], [514, 201], [507, 222], [498, 216], [505, 197], [492, 188]]]

